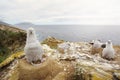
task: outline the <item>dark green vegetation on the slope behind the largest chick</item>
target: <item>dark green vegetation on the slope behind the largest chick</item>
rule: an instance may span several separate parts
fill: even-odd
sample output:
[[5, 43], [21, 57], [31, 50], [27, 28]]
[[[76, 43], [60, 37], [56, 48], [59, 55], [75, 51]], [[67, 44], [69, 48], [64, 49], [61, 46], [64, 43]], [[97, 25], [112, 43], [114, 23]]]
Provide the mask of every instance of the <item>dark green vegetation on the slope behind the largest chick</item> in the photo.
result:
[[9, 57], [11, 53], [20, 51], [25, 44], [25, 39], [25, 32], [0, 29], [0, 63]]

